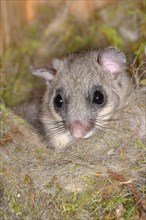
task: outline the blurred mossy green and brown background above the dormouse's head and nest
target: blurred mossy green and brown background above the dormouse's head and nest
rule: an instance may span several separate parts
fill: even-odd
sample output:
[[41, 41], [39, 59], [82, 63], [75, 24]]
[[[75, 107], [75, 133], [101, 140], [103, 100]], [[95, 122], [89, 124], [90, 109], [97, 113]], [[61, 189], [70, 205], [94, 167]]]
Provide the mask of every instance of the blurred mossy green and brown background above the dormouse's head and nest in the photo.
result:
[[[29, 66], [84, 49], [115, 46], [144, 79], [145, 0], [1, 0], [2, 101], [16, 106], [42, 96]], [[131, 65], [132, 64], [132, 65]]]

